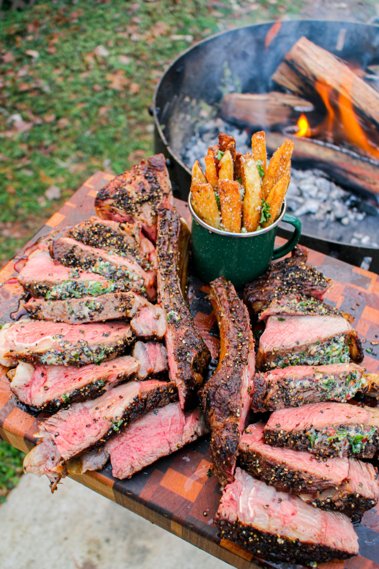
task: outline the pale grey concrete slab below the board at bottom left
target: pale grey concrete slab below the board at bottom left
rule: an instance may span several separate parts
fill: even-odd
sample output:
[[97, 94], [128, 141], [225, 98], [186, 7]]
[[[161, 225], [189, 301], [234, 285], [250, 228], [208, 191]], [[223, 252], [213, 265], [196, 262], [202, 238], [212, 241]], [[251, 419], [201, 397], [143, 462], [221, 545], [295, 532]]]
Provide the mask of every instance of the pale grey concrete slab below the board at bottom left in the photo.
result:
[[65, 479], [24, 475], [0, 506], [1, 569], [227, 569], [227, 563]]

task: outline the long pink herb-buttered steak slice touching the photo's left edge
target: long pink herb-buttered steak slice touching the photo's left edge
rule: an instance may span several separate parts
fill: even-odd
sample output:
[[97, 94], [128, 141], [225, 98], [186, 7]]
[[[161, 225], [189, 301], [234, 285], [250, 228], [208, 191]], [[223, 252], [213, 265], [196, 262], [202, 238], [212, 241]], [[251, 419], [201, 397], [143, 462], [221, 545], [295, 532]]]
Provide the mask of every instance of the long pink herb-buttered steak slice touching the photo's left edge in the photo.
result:
[[132, 341], [130, 325], [117, 320], [90, 324], [19, 320], [0, 331], [0, 364], [15, 365], [16, 360], [41, 365], [97, 364], [125, 353]]

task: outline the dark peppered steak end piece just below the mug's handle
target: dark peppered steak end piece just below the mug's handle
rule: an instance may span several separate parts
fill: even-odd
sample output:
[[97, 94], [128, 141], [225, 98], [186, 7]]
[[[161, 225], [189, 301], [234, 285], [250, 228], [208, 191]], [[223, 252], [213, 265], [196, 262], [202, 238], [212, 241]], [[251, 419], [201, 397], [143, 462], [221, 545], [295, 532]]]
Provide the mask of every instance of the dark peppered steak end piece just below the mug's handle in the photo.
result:
[[270, 265], [261, 277], [247, 284], [243, 299], [249, 311], [257, 315], [267, 308], [274, 298], [281, 298], [286, 294], [313, 296], [322, 300], [330, 286], [330, 279], [307, 265], [307, 257], [307, 249], [297, 245], [291, 257]]

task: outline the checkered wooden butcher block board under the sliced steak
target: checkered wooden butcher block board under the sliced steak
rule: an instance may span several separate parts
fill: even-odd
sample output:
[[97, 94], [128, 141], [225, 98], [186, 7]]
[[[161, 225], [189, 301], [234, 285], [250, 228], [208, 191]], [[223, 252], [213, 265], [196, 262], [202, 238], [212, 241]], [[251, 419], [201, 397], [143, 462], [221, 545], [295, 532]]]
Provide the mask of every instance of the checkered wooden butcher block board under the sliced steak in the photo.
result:
[[[0, 271], [0, 323], [9, 321], [11, 314], [18, 318], [22, 290], [15, 276], [22, 267], [30, 246], [52, 230], [66, 224], [76, 224], [93, 215], [94, 197], [98, 189], [111, 179], [113, 175], [105, 172], [96, 172], [91, 176]], [[189, 217], [184, 202], [176, 200], [176, 207], [182, 216]], [[326, 302], [354, 316], [353, 325], [361, 339], [366, 339], [363, 344], [364, 365], [370, 372], [379, 373], [379, 347], [370, 344], [370, 341], [377, 341], [376, 335], [379, 335], [378, 275], [316, 251], [310, 251], [309, 262], [334, 281], [334, 286], [327, 291]], [[206, 299], [207, 292], [206, 284], [191, 279], [191, 312], [197, 328], [215, 357], [218, 348], [217, 325], [210, 303]], [[370, 354], [366, 350], [373, 353]], [[5, 369], [0, 369], [0, 437], [21, 451], [28, 452], [36, 443], [34, 433], [38, 430], [38, 421], [45, 416], [44, 413], [34, 416], [16, 405], [5, 377]], [[106, 465], [102, 471], [72, 478], [232, 566], [240, 569], [280, 567], [257, 559], [249, 551], [218, 537], [213, 519], [220, 492], [211, 468], [209, 438], [203, 438], [157, 461], [134, 475], [131, 480], [114, 479], [110, 465]], [[359, 535], [360, 555], [347, 561], [320, 564], [319, 567], [379, 569], [377, 510], [367, 512], [361, 524], [356, 526], [356, 530]], [[282, 567], [290, 566], [282, 564]]]

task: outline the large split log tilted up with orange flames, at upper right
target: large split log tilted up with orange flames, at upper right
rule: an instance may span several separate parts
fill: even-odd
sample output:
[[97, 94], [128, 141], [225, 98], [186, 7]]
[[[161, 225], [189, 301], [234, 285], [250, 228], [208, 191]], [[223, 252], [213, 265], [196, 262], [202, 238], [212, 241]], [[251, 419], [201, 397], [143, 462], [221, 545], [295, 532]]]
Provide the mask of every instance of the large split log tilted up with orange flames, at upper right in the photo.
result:
[[[274, 72], [272, 79], [311, 101], [323, 101], [328, 111], [322, 130], [344, 139], [348, 147], [370, 158], [379, 158], [379, 92], [338, 57], [300, 38]], [[338, 125], [342, 128], [338, 127]]]

